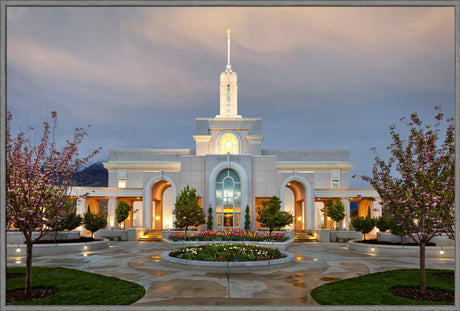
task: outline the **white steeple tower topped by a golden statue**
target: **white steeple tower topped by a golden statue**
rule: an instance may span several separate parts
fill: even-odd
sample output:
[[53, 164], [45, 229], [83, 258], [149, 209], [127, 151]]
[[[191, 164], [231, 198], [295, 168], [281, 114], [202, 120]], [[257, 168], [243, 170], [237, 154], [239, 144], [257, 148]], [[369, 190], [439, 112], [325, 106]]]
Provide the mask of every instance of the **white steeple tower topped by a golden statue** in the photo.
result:
[[227, 66], [220, 74], [220, 114], [216, 118], [241, 118], [238, 115], [238, 84], [230, 65], [230, 28], [227, 29]]

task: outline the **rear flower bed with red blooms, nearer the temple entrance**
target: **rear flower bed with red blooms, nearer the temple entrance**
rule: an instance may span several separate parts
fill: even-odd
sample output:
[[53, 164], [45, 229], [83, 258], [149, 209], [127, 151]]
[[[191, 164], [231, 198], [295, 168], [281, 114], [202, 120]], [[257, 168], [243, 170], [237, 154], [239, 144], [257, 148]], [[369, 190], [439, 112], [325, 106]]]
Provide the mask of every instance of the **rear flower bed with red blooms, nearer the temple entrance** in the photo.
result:
[[203, 231], [184, 235], [176, 232], [169, 235], [169, 239], [177, 241], [251, 241], [251, 242], [284, 242], [289, 239], [284, 233], [257, 233], [245, 230]]

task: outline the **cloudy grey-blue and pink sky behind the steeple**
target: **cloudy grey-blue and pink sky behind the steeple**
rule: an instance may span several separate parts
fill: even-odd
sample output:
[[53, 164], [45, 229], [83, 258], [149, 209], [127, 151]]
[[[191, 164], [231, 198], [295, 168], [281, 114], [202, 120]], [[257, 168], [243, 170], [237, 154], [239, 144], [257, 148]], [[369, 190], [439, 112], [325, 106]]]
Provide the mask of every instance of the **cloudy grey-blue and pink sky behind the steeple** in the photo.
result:
[[102, 161], [195, 148], [195, 118], [219, 113], [227, 27], [239, 114], [262, 118], [264, 149], [348, 149], [369, 174], [389, 125], [454, 115], [454, 8], [9, 7], [13, 127], [57, 111], [62, 138], [91, 125], [82, 151]]

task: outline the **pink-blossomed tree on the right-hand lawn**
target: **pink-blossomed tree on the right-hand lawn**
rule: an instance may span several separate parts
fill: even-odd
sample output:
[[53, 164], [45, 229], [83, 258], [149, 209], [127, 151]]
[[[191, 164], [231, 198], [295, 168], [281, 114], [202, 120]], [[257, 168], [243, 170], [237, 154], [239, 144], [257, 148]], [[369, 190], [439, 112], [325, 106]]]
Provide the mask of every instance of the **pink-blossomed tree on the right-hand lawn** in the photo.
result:
[[[379, 193], [383, 208], [417, 243], [420, 249], [420, 293], [426, 293], [425, 247], [445, 232], [455, 238], [455, 137], [454, 119], [445, 119], [446, 132], [441, 136], [444, 114], [435, 107], [435, 124], [422, 125], [416, 113], [402, 118], [410, 128], [407, 139], [390, 126], [393, 143], [387, 147], [387, 161], [375, 156], [371, 176], [362, 176]], [[374, 148], [375, 150], [375, 148]]]

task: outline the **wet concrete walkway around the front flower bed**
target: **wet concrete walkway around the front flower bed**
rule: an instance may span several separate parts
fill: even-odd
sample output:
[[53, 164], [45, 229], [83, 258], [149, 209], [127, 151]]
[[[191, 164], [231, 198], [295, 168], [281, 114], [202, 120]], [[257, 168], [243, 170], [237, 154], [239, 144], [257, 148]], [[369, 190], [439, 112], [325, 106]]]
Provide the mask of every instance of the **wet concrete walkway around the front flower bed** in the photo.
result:
[[[161, 242], [111, 242], [105, 250], [34, 257], [34, 266], [66, 267], [141, 284], [145, 296], [134, 305], [316, 305], [310, 291], [327, 282], [367, 273], [418, 268], [418, 258], [354, 253], [345, 243], [296, 242], [287, 251], [294, 263], [244, 273], [216, 273], [168, 266]], [[8, 257], [8, 267], [25, 258]], [[455, 269], [454, 259], [426, 260], [427, 268]]]

